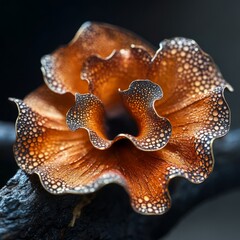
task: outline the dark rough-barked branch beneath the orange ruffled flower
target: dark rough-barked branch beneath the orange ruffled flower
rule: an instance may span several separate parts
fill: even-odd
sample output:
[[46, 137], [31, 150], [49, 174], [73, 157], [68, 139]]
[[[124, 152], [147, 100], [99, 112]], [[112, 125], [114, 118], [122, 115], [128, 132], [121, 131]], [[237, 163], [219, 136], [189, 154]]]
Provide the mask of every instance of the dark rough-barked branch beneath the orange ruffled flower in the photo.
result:
[[[1, 149], [13, 139], [6, 144], [0, 135]], [[214, 150], [215, 169], [204, 183], [171, 182], [172, 208], [163, 216], [135, 213], [117, 185], [94, 195], [54, 196], [18, 170], [0, 190], [0, 239], [158, 239], [198, 203], [240, 187], [240, 129], [217, 140]]]

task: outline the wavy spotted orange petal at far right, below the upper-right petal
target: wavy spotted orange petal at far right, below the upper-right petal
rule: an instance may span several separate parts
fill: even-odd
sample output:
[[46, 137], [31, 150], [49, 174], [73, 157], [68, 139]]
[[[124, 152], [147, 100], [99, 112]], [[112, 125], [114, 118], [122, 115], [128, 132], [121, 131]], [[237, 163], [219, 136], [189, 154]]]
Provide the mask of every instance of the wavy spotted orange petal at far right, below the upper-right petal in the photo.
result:
[[212, 143], [230, 128], [230, 110], [223, 91], [222, 87], [217, 87], [203, 94], [197, 102], [167, 115], [172, 124], [172, 137], [166, 148], [182, 162], [182, 166], [172, 168], [174, 175], [200, 183], [211, 173]]

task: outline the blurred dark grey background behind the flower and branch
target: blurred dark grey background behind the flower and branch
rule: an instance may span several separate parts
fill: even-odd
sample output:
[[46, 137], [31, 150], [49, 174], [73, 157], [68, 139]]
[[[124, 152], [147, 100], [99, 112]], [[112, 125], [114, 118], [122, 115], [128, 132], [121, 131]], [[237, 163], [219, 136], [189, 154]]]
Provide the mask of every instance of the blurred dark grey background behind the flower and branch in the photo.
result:
[[[176, 36], [194, 39], [234, 87], [233, 93], [226, 92], [226, 99], [232, 109], [232, 129], [240, 127], [240, 1], [1, 0], [0, 10], [0, 121], [13, 123], [17, 117], [16, 107], [8, 97], [22, 99], [43, 83], [40, 58], [67, 44], [82, 23], [92, 20], [129, 29], [155, 46]], [[16, 171], [10, 158], [0, 168], [1, 185]], [[240, 190], [214, 201], [191, 213], [193, 216], [184, 219], [166, 240], [176, 236], [240, 239]], [[179, 234], [183, 234], [182, 238]]]

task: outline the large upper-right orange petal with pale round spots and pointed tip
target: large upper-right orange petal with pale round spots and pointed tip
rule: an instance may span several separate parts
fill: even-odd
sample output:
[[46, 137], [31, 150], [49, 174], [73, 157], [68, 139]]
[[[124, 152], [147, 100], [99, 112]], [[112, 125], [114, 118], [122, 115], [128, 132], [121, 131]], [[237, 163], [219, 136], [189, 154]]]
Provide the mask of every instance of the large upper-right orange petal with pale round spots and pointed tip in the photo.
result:
[[160, 43], [149, 79], [159, 84], [164, 98], [156, 104], [163, 114], [197, 101], [201, 95], [226, 83], [209, 55], [194, 40], [174, 38]]

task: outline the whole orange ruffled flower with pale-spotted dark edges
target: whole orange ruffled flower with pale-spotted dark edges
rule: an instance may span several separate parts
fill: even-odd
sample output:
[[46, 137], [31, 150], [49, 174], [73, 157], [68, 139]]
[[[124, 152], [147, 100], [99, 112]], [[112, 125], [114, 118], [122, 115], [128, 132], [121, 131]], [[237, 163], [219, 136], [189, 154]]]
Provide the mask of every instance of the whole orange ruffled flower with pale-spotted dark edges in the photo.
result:
[[13, 99], [14, 153], [49, 192], [114, 182], [136, 211], [163, 214], [171, 178], [201, 183], [212, 171], [212, 142], [230, 126], [223, 92], [232, 88], [193, 40], [165, 40], [155, 53], [123, 29], [86, 23], [42, 58], [42, 70], [47, 86]]

